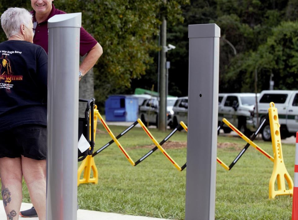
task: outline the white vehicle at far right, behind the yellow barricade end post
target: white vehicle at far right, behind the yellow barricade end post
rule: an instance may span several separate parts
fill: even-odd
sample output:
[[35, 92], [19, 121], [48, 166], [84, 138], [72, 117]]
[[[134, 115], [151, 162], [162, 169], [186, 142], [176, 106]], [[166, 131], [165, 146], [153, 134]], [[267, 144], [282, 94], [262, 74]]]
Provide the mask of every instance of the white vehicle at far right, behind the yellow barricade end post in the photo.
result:
[[[268, 112], [270, 102], [274, 102], [278, 111], [281, 138], [296, 136], [298, 131], [298, 91], [264, 90], [258, 98], [259, 124]], [[256, 115], [256, 114], [255, 114]], [[255, 117], [255, 123], [256, 123]], [[266, 123], [261, 130], [264, 141], [271, 140], [270, 125]]]

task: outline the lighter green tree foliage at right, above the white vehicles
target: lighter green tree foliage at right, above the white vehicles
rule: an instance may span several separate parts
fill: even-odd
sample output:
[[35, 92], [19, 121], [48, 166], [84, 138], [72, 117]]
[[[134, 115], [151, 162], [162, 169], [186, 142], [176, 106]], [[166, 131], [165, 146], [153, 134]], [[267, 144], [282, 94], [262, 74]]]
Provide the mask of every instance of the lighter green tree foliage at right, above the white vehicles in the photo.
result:
[[[256, 51], [248, 52], [243, 62], [234, 65], [229, 75], [237, 77], [238, 73], [246, 75], [241, 86], [247, 90], [252, 86], [255, 70], [259, 76], [259, 89], [269, 88], [269, 78], [273, 74], [275, 89], [298, 89], [298, 23], [282, 22], [272, 30], [266, 43]], [[246, 57], [246, 59], [244, 59]], [[241, 65], [239, 65], [241, 64]]]

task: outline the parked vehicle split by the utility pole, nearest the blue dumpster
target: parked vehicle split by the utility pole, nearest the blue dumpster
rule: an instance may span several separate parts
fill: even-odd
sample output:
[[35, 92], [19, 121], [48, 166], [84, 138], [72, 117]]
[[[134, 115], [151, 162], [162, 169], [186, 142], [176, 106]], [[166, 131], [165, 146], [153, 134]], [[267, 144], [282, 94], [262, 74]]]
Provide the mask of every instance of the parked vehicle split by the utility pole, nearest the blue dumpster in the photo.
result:
[[[167, 98], [167, 125], [172, 125], [173, 106], [177, 97]], [[156, 97], [145, 99], [139, 107], [139, 118], [147, 125], [158, 125], [159, 102]]]

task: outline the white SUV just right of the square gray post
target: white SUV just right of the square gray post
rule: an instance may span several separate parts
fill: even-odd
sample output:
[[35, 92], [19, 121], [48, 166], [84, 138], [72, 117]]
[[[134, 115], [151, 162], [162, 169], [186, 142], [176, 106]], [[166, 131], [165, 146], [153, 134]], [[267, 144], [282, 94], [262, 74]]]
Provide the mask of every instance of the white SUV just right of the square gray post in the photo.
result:
[[[244, 135], [250, 136], [256, 130], [253, 120], [255, 93], [219, 93], [218, 123], [227, 119]], [[231, 131], [226, 125], [225, 133]]]

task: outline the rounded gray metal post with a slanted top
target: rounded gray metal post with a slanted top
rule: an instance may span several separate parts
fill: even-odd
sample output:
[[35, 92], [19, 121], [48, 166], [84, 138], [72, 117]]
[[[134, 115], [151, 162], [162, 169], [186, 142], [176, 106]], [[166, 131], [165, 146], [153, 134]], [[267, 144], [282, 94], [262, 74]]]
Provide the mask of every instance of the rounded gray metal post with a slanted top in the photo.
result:
[[47, 220], [77, 219], [81, 13], [48, 20]]

